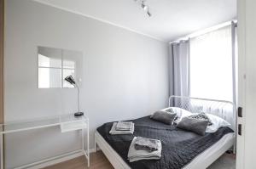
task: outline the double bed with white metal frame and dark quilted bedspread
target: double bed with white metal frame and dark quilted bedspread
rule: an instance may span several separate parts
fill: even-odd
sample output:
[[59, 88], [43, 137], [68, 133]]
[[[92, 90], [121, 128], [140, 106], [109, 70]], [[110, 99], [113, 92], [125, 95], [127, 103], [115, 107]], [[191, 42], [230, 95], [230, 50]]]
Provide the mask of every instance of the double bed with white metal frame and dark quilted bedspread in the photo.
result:
[[[96, 146], [102, 149], [114, 168], [184, 168], [203, 169], [234, 146], [236, 140], [236, 113], [234, 104], [223, 100], [196, 99], [171, 96], [169, 107], [180, 107], [192, 113], [207, 112], [230, 122], [230, 127], [220, 127], [217, 132], [199, 136], [183, 131], [175, 125], [153, 121], [149, 116], [131, 120], [135, 123], [133, 135], [110, 135], [112, 122], [103, 124], [95, 133]], [[160, 161], [127, 160], [127, 152], [134, 136], [158, 138], [163, 144]], [[235, 147], [235, 146], [234, 146]]]

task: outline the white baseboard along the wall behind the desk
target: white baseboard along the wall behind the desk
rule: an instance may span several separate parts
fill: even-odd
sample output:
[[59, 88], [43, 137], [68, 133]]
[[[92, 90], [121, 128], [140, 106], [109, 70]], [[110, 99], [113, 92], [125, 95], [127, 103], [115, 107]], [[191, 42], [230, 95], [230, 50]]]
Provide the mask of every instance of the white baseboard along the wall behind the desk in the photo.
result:
[[[96, 152], [96, 149], [90, 149], [90, 153]], [[87, 153], [87, 152], [86, 152]], [[77, 158], [79, 156], [84, 155], [84, 153], [82, 151], [78, 151], [78, 152], [74, 152], [73, 154], [69, 154], [69, 155], [60, 155], [58, 157], [55, 158], [49, 158], [46, 159], [44, 161], [38, 161], [32, 164], [28, 164], [25, 166], [19, 166], [19, 167], [15, 167], [15, 169], [38, 169], [38, 168], [44, 168], [46, 166], [52, 166], [64, 161], [69, 161], [72, 160], [74, 158]]]

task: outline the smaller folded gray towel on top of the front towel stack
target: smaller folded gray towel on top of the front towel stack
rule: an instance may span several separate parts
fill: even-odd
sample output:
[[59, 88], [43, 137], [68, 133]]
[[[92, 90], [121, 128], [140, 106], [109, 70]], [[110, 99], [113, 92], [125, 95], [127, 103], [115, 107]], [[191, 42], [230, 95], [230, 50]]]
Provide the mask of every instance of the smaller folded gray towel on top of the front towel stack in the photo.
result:
[[159, 140], [157, 139], [137, 137], [135, 141], [135, 149], [144, 149], [148, 152], [155, 151], [158, 147], [158, 141]]

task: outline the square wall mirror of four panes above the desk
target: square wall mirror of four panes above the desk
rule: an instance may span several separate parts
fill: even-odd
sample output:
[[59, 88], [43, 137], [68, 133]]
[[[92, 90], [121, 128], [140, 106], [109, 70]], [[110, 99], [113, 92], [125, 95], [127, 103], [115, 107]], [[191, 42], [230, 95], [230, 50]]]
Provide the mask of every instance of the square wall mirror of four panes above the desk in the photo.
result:
[[38, 47], [38, 88], [73, 87], [64, 79], [72, 75], [82, 85], [83, 53], [79, 51]]

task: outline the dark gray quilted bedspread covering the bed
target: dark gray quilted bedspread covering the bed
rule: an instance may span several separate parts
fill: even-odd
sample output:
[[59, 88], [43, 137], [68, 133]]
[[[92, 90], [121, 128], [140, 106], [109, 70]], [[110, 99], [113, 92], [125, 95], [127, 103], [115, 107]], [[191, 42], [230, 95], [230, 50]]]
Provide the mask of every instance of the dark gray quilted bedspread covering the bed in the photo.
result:
[[[216, 144], [225, 135], [233, 132], [229, 127], [221, 127], [217, 132], [199, 136], [194, 132], [178, 129], [174, 125], [170, 126], [153, 121], [149, 116], [133, 120], [133, 122], [135, 123], [135, 132], [133, 135], [110, 135], [108, 132], [112, 127], [112, 122], [98, 127], [97, 132], [101, 134], [102, 138], [104, 138], [123, 161], [134, 169], [190, 168], [188, 166], [190, 164], [193, 165], [194, 161], [195, 164], [197, 163], [196, 159], [198, 155], [201, 155], [206, 149], [212, 147], [213, 144]], [[127, 154], [134, 136], [160, 139], [163, 146], [161, 159], [159, 161], [144, 160], [130, 163], [127, 160]]]

